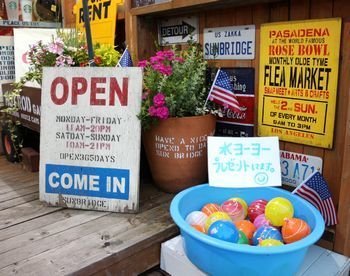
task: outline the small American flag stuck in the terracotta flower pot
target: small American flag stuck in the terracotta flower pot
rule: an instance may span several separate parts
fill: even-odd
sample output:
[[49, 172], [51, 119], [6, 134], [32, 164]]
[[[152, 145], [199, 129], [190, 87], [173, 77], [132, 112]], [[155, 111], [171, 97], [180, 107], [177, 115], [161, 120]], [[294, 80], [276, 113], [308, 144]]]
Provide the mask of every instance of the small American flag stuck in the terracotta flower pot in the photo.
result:
[[237, 97], [233, 93], [233, 85], [230, 82], [230, 77], [221, 69], [216, 73], [208, 97], [211, 101], [228, 107], [232, 111], [241, 112]]

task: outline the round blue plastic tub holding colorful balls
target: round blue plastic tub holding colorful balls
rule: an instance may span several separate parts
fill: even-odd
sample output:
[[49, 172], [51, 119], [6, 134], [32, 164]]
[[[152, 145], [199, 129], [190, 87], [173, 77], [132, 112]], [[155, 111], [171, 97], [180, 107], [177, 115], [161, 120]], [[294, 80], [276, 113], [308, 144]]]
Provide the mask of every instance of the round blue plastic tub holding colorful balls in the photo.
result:
[[[248, 205], [256, 199], [270, 200], [282, 196], [294, 206], [294, 217], [310, 225], [306, 238], [276, 247], [240, 245], [209, 237], [192, 228], [186, 216], [206, 203], [221, 204], [231, 197], [241, 197]], [[319, 240], [324, 220], [317, 209], [304, 199], [278, 188], [217, 188], [199, 185], [177, 194], [170, 206], [174, 222], [179, 226], [187, 257], [209, 275], [295, 275], [302, 265], [308, 247]]]

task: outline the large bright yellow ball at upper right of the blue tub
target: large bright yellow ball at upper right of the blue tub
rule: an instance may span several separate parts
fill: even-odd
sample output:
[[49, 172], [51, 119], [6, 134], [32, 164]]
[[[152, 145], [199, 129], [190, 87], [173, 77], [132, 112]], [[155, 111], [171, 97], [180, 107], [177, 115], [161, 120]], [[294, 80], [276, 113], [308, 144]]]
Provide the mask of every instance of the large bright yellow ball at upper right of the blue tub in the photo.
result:
[[293, 215], [293, 205], [284, 197], [275, 197], [266, 204], [265, 217], [273, 226], [282, 226], [284, 219], [290, 219]]

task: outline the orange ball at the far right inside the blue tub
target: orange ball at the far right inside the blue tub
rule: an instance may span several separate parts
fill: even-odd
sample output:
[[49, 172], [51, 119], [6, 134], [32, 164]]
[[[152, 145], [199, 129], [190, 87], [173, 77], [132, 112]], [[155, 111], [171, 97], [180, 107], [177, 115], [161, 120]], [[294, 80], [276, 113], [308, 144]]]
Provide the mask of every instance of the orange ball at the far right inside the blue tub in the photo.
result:
[[305, 238], [311, 232], [310, 226], [302, 219], [285, 219], [282, 226], [282, 237], [285, 243], [292, 243]]

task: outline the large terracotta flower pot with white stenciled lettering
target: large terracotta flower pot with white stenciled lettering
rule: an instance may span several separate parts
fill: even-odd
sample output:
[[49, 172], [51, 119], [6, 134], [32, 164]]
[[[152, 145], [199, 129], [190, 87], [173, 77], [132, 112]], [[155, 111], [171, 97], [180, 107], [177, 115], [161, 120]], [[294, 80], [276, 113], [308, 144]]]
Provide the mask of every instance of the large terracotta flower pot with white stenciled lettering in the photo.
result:
[[214, 135], [213, 115], [169, 118], [142, 133], [154, 183], [176, 193], [206, 183], [207, 136]]

